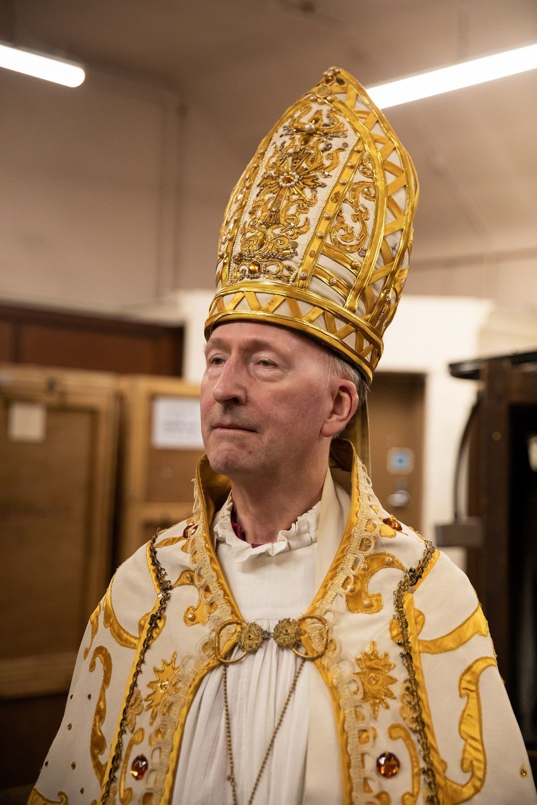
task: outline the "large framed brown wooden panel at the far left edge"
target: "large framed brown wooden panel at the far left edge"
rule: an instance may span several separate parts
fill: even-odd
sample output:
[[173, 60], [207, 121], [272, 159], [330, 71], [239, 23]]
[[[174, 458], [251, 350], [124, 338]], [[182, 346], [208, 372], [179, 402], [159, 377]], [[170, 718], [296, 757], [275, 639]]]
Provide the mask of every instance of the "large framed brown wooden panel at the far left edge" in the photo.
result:
[[[76, 651], [109, 580], [117, 381], [6, 364], [0, 372], [0, 658]], [[46, 407], [42, 442], [7, 438], [7, 408], [19, 401]]]

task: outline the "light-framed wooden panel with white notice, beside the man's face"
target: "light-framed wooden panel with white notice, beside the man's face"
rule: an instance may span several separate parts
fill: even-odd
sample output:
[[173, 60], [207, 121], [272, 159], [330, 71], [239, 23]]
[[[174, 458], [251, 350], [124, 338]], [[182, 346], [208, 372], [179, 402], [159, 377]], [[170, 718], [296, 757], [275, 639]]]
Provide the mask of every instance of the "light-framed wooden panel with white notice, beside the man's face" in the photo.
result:
[[[175, 378], [122, 378], [122, 514], [118, 562], [155, 534], [192, 514], [196, 463], [204, 453], [200, 434], [184, 446], [159, 439], [159, 405], [192, 403], [199, 430], [200, 387]], [[173, 424], [173, 423], [172, 423]], [[180, 425], [180, 421], [179, 421]], [[171, 435], [173, 436], [173, 434]], [[179, 440], [180, 441], [180, 440]]]

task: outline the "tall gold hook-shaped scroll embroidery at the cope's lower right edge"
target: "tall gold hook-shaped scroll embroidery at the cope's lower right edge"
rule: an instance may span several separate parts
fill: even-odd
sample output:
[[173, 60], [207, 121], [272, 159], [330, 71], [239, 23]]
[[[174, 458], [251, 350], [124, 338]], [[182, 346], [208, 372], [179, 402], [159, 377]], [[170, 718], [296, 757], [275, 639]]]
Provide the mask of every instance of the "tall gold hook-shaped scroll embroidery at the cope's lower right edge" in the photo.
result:
[[485, 668], [495, 666], [494, 657], [480, 657], [471, 663], [459, 679], [459, 696], [467, 696], [465, 709], [459, 720], [459, 735], [465, 741], [462, 750], [461, 769], [472, 777], [464, 785], [446, 778], [449, 801], [452, 805], [465, 803], [481, 791], [486, 775], [486, 755], [483, 744], [483, 724], [481, 720], [481, 699], [479, 678]]

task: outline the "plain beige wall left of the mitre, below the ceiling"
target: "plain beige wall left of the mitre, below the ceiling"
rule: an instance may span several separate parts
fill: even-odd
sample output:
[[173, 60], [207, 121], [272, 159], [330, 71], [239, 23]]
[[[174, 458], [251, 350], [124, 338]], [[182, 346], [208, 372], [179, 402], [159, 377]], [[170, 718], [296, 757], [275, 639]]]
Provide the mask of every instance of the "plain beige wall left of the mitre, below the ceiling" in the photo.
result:
[[210, 287], [242, 171], [180, 99], [89, 72], [67, 89], [0, 71], [0, 298], [117, 311]]

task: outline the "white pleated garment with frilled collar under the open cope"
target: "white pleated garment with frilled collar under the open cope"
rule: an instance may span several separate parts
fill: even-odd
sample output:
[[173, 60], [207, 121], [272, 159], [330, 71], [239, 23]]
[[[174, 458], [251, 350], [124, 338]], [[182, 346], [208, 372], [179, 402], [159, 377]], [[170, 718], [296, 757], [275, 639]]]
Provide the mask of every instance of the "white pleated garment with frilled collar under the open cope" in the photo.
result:
[[[218, 559], [246, 621], [272, 631], [298, 617], [315, 595], [320, 502], [275, 543], [250, 547], [234, 534], [231, 497], [213, 522]], [[240, 652], [237, 652], [240, 654]], [[228, 668], [228, 699], [238, 803], [246, 805], [300, 660], [266, 640]], [[299, 805], [308, 745], [308, 663], [299, 676], [254, 805]], [[231, 805], [221, 668], [204, 676], [188, 713], [172, 805]]]

